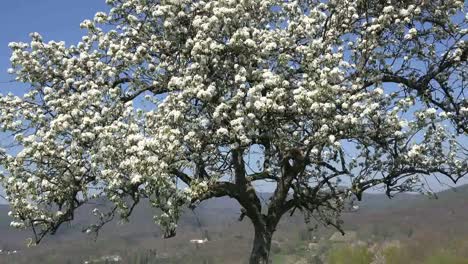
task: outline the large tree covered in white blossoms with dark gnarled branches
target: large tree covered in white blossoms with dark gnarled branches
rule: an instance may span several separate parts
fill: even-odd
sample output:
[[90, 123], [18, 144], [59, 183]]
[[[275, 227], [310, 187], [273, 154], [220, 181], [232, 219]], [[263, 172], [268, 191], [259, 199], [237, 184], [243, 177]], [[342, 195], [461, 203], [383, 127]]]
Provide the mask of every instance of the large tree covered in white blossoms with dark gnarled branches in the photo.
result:
[[113, 207], [88, 231], [147, 199], [172, 236], [183, 206], [228, 196], [267, 263], [286, 213], [340, 229], [369, 188], [467, 173], [463, 1], [107, 3], [76, 45], [10, 44], [30, 89], [0, 97], [0, 180], [36, 242], [96, 198]]

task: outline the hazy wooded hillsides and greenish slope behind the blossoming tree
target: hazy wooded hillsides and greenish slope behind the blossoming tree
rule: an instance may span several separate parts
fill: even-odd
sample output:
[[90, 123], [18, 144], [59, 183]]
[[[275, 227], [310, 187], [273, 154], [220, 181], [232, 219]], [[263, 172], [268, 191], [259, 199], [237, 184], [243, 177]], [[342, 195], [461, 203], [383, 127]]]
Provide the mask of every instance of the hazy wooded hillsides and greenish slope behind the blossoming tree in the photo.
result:
[[[268, 199], [268, 194], [262, 194]], [[314, 256], [328, 263], [468, 263], [468, 185], [437, 194], [438, 199], [400, 195], [388, 199], [367, 194], [360, 209], [343, 216], [346, 230], [356, 231], [359, 241], [334, 244], [328, 239], [336, 230], [303, 224], [300, 214], [285, 218], [274, 237], [274, 263], [314, 263]], [[96, 205], [93, 205], [96, 206]], [[105, 205], [98, 205], [105, 207]], [[88, 208], [89, 209], [89, 208]], [[28, 231], [9, 227], [8, 207], [0, 205], [0, 263], [105, 263], [119, 256], [123, 263], [246, 263], [251, 245], [251, 226], [239, 222], [240, 211], [230, 199], [216, 199], [188, 210], [178, 234], [162, 239], [152, 223], [148, 205], [139, 207], [130, 223], [112, 222], [96, 240], [82, 233], [93, 218], [80, 211], [76, 220], [38, 246], [27, 248]], [[190, 239], [208, 238], [195, 246]], [[308, 250], [316, 242], [319, 253]], [[318, 258], [318, 257], [317, 257]], [[346, 261], [345, 261], [346, 260]], [[109, 261], [109, 260], [107, 260]], [[109, 262], [110, 263], [110, 262]]]

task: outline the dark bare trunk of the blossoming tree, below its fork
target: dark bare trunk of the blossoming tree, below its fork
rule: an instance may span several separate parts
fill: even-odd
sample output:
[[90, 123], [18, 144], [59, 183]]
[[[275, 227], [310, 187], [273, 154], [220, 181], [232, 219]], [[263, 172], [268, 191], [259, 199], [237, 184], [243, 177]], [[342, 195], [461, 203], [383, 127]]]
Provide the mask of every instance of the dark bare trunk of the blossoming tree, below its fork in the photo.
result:
[[254, 228], [255, 238], [249, 263], [269, 264], [271, 238], [273, 237], [273, 232], [269, 231], [266, 226], [261, 224], [254, 225]]

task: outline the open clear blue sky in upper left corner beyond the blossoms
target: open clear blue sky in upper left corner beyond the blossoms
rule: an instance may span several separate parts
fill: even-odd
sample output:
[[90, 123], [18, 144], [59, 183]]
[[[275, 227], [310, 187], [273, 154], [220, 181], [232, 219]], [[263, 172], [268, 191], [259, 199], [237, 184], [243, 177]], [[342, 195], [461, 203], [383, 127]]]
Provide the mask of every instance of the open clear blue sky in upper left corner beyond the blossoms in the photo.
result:
[[105, 0], [2, 0], [0, 1], [0, 93], [18, 89], [12, 79], [8, 43], [29, 42], [29, 33], [38, 32], [45, 40], [63, 40], [68, 45], [81, 39], [80, 23], [108, 10]]

